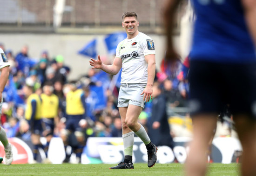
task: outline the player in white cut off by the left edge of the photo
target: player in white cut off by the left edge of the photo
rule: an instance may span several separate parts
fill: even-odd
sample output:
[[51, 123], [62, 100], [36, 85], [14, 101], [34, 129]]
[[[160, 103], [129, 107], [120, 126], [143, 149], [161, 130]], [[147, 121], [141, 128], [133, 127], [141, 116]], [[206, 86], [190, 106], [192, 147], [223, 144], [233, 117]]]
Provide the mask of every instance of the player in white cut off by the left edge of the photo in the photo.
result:
[[[10, 63], [7, 61], [7, 57], [4, 53], [4, 51], [0, 48], [0, 118], [2, 114], [2, 104], [3, 104], [3, 98], [2, 93], [4, 91], [5, 85], [7, 83], [8, 77], [9, 77], [9, 66]], [[13, 151], [12, 151], [12, 145], [8, 142], [8, 138], [6, 135], [5, 130], [0, 126], [0, 141], [4, 145], [5, 148], [5, 163], [7, 165], [10, 165], [13, 162]]]

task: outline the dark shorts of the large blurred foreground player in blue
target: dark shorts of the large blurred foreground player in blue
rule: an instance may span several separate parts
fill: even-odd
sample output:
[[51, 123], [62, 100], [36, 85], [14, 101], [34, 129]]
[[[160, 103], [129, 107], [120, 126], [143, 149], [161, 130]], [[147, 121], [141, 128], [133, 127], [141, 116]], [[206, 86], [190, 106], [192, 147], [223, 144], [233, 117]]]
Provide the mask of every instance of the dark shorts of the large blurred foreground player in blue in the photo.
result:
[[189, 70], [191, 115], [220, 113], [229, 104], [232, 114], [256, 116], [256, 63], [191, 61]]

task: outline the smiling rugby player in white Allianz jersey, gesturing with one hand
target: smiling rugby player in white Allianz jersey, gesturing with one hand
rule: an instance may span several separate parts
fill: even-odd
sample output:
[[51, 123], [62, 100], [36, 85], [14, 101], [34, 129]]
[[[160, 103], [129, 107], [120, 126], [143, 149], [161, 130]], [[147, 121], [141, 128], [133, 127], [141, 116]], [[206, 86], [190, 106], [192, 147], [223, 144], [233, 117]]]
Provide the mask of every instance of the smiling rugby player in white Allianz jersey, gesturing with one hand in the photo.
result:
[[116, 75], [122, 68], [117, 106], [122, 121], [125, 157], [123, 162], [109, 169], [134, 169], [132, 162], [134, 133], [146, 145], [148, 167], [152, 167], [156, 163], [157, 147], [151, 143], [144, 127], [138, 123], [138, 117], [145, 102], [152, 99], [155, 78], [155, 46], [150, 37], [138, 31], [138, 26], [136, 13], [124, 13], [122, 27], [127, 33], [127, 38], [118, 44], [113, 64], [103, 64], [100, 56], [98, 56], [98, 60], [90, 60], [92, 69], [102, 69], [111, 75]]

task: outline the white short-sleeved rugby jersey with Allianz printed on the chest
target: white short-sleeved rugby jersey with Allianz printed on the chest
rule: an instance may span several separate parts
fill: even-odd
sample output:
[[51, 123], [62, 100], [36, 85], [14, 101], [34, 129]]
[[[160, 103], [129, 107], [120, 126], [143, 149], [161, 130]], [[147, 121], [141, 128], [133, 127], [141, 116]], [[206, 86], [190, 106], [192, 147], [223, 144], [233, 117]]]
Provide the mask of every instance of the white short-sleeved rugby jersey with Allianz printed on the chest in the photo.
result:
[[145, 56], [155, 54], [153, 40], [146, 34], [124, 39], [116, 48], [116, 56], [122, 59], [121, 83], [148, 82], [148, 63]]

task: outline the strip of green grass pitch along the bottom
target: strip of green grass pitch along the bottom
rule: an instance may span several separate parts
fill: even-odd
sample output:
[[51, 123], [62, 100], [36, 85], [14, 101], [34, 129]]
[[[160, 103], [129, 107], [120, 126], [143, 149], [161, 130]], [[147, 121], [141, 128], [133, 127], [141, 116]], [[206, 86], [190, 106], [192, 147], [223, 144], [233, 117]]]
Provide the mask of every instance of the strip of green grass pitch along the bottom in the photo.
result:
[[[135, 169], [110, 170], [113, 164], [0, 164], [0, 176], [182, 176], [183, 165], [135, 163]], [[239, 176], [238, 164], [209, 164], [207, 176]]]

